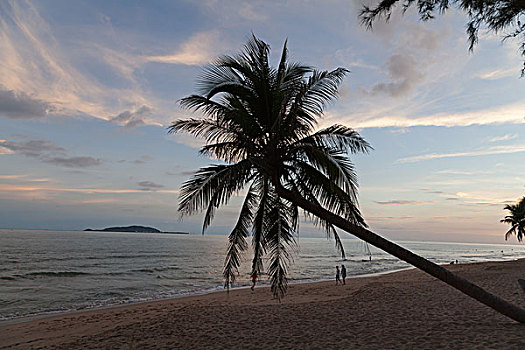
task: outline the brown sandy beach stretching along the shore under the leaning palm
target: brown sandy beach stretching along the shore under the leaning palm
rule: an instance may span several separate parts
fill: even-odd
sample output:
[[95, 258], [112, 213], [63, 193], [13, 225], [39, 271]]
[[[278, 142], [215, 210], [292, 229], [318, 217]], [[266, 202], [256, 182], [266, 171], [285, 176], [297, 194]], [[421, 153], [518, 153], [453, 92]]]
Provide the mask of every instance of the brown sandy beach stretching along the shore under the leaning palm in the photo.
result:
[[[525, 307], [525, 259], [450, 265]], [[523, 349], [525, 325], [417, 270], [62, 314], [0, 325], [0, 349]]]

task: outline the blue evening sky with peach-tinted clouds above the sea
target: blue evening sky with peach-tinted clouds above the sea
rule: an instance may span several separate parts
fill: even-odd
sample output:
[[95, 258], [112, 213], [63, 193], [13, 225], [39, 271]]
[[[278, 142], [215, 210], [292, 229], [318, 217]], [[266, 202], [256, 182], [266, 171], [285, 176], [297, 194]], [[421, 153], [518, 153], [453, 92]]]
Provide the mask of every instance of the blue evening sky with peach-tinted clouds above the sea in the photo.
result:
[[[374, 1], [367, 1], [373, 3]], [[215, 161], [203, 140], [168, 135], [194, 117], [178, 100], [202, 67], [254, 33], [276, 64], [351, 71], [319, 128], [352, 127], [361, 211], [393, 240], [504, 243], [503, 207], [525, 195], [525, 80], [518, 44], [464, 13], [412, 10], [372, 31], [362, 1], [0, 1], [0, 227], [82, 230], [180, 220], [181, 184]], [[241, 196], [210, 233], [228, 233]], [[300, 234], [319, 235], [308, 222]], [[516, 243], [515, 238], [509, 240]]]

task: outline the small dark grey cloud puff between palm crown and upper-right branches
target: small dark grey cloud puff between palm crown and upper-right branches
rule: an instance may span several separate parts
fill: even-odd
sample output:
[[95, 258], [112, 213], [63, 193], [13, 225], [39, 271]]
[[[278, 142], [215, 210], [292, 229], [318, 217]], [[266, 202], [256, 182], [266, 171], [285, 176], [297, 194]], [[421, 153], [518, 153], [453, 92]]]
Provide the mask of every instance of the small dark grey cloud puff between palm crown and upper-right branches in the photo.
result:
[[416, 60], [410, 54], [394, 54], [385, 64], [390, 82], [376, 83], [370, 88], [373, 95], [387, 94], [392, 97], [406, 95], [423, 81], [425, 75], [417, 69]]

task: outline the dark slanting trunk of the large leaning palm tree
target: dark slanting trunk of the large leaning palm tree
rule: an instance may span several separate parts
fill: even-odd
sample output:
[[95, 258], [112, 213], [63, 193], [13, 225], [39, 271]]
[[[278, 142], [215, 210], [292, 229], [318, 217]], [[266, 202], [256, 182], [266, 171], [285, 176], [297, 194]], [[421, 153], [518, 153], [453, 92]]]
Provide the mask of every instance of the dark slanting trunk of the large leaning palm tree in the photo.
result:
[[437, 264], [434, 264], [433, 262], [428, 261], [427, 259], [416, 255], [411, 251], [401, 246], [398, 246], [395, 243], [384, 239], [383, 237], [375, 234], [372, 231], [350, 223], [342, 217], [329, 212], [321, 206], [307, 201], [300, 195], [297, 195], [296, 193], [291, 192], [280, 185], [277, 185], [277, 192], [280, 196], [298, 205], [302, 209], [332, 223], [333, 225], [339, 227], [342, 230], [347, 231], [348, 233], [362, 239], [363, 241], [368, 242], [374, 245], [375, 247], [384, 250], [385, 252], [401, 260], [408, 262], [409, 264], [417, 267], [418, 269], [421, 269], [426, 273], [436, 278], [439, 278], [443, 282], [451, 285], [456, 289], [459, 289], [461, 292], [493, 308], [494, 310], [502, 313], [503, 315], [508, 316], [515, 321], [525, 323], [525, 310], [515, 305], [512, 305], [507, 301], [487, 292], [481, 287], [467, 281], [464, 278], [457, 276], [449, 270]]

